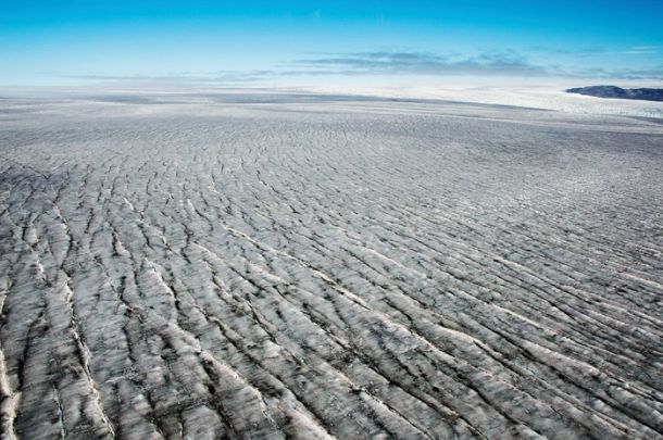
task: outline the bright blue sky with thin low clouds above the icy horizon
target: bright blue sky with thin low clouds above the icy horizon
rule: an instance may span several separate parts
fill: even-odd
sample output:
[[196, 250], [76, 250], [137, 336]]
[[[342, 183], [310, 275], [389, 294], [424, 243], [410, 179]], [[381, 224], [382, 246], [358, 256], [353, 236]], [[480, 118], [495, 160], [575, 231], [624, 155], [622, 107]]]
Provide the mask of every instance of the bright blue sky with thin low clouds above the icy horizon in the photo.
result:
[[661, 0], [0, 0], [0, 85], [660, 80], [662, 17]]

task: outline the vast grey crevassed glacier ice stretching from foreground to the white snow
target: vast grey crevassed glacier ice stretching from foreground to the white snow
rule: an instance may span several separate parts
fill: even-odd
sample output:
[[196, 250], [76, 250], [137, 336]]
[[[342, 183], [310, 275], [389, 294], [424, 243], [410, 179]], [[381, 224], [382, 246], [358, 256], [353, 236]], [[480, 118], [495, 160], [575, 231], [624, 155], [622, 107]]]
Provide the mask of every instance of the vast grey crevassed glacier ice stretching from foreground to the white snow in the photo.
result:
[[663, 438], [661, 120], [0, 99], [1, 438]]

